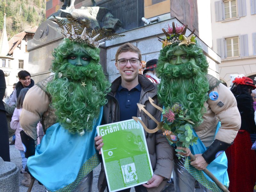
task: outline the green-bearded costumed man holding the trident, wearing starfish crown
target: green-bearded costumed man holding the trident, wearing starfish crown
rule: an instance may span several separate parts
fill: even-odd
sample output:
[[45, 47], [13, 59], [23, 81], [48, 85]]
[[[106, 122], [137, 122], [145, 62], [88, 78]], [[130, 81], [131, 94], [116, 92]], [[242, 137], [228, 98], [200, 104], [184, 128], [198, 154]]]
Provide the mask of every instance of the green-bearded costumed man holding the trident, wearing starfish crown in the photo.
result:
[[[222, 191], [200, 170], [207, 167], [228, 188], [224, 151], [232, 144], [240, 128], [240, 114], [236, 99], [228, 88], [207, 74], [209, 65], [203, 50], [196, 42], [194, 31], [185, 36], [186, 29], [187, 26], [175, 27], [173, 22], [172, 27], [163, 29], [166, 37], [158, 37], [163, 43], [156, 68], [161, 78], [158, 99], [165, 108], [179, 103], [184, 110], [188, 109], [187, 115], [195, 124], [192, 125], [193, 135], [198, 137], [197, 143], [189, 148], [177, 146], [178, 154], [189, 156], [192, 153], [196, 160], [190, 163], [188, 157], [174, 159], [175, 191], [194, 192], [196, 180], [200, 182], [201, 191]], [[177, 136], [179, 139], [180, 135]], [[186, 137], [186, 140], [190, 138]]]

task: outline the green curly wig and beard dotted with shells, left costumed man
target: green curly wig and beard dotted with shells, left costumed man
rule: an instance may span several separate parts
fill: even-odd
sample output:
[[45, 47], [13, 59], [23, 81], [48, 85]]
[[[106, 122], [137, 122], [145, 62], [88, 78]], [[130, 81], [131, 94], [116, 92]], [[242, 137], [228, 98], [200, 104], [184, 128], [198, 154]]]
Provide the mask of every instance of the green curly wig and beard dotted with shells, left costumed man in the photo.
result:
[[[68, 63], [67, 56], [73, 52], [89, 54], [89, 64], [78, 67]], [[99, 64], [99, 49], [65, 39], [53, 56], [52, 71], [55, 75], [47, 84], [47, 91], [52, 95], [51, 105], [56, 109], [57, 122], [71, 133], [92, 131], [100, 107], [107, 102], [110, 87]], [[60, 78], [59, 73], [62, 74]], [[85, 87], [82, 82], [85, 82]]]

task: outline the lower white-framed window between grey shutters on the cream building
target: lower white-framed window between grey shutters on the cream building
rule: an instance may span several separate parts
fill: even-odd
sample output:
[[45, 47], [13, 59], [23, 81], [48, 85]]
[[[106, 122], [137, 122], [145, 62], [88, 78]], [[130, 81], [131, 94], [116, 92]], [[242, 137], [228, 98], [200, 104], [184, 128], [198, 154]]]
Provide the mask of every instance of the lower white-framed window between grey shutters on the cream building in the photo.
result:
[[238, 37], [226, 38], [226, 51], [228, 57], [239, 57]]

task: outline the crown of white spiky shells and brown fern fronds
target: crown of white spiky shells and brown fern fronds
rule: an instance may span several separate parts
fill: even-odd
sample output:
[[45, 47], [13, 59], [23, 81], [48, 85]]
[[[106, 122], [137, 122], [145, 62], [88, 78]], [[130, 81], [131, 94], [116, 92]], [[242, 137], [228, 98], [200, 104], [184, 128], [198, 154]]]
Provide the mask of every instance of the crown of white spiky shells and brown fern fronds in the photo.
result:
[[103, 42], [104, 40], [109, 41], [124, 36], [113, 33], [110, 29], [92, 29], [90, 20], [78, 20], [73, 16], [67, 16], [67, 18], [54, 18], [61, 29], [49, 25], [50, 27], [54, 28], [59, 33], [62, 33], [66, 38], [72, 41], [86, 43], [91, 47], [98, 48], [101, 44], [105, 43]]

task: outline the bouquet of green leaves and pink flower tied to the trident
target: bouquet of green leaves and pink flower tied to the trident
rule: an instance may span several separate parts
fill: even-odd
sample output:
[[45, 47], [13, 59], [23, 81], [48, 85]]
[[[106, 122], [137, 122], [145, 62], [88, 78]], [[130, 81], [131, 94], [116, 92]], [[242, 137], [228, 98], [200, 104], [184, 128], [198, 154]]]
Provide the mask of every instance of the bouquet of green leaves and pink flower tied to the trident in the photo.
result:
[[[184, 109], [180, 103], [175, 103], [172, 107], [163, 109], [163, 134], [167, 137], [170, 144], [175, 143], [177, 147], [188, 148], [189, 145], [196, 144], [197, 137], [192, 133], [194, 123], [187, 115], [188, 109]], [[177, 152], [183, 150], [175, 149]], [[176, 154], [180, 158], [180, 154]]]

